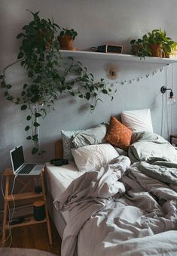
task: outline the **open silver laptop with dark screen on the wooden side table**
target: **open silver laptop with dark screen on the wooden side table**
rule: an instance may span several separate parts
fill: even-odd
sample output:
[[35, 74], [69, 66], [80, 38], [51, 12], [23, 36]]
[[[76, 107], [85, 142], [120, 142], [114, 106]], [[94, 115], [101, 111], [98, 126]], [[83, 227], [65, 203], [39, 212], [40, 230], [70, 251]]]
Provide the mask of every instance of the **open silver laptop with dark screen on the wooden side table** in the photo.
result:
[[14, 174], [17, 175], [39, 175], [44, 164], [26, 163], [23, 155], [22, 145], [10, 151], [11, 164]]

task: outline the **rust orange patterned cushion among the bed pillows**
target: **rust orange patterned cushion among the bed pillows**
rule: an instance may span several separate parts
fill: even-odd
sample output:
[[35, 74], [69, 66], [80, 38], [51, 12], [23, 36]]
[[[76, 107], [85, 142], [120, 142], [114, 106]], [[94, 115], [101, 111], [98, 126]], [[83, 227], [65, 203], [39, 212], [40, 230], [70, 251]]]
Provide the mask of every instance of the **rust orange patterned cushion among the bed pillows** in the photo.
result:
[[115, 147], [127, 150], [130, 146], [132, 133], [133, 131], [121, 124], [121, 122], [119, 122], [114, 116], [111, 116], [105, 140]]

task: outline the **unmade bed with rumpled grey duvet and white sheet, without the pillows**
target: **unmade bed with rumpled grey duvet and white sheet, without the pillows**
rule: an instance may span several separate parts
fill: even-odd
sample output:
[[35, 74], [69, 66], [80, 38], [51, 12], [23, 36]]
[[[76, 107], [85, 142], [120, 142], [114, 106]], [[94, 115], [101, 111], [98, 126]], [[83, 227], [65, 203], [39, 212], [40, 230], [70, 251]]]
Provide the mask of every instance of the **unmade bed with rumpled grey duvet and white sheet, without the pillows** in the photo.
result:
[[47, 165], [62, 256], [177, 254], [177, 155], [159, 135], [138, 135], [99, 169]]

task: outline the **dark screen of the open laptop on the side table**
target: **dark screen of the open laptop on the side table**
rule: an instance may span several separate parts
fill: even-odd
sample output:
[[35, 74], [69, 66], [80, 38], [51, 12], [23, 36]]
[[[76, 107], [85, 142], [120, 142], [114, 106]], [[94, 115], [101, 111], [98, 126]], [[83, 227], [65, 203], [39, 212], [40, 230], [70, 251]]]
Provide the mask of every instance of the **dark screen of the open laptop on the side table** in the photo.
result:
[[23, 156], [23, 148], [22, 146], [16, 147], [14, 150], [11, 150], [11, 161], [12, 161], [12, 167], [14, 171], [17, 171], [17, 169], [23, 165], [25, 162], [24, 156]]

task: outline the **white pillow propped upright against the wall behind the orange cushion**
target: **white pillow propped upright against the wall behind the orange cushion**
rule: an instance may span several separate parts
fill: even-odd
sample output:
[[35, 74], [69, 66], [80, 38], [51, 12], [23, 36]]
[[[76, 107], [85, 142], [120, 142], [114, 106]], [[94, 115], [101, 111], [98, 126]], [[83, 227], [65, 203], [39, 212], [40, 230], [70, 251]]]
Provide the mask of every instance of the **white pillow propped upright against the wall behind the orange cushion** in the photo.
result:
[[122, 111], [121, 122], [133, 131], [153, 132], [150, 109]]

